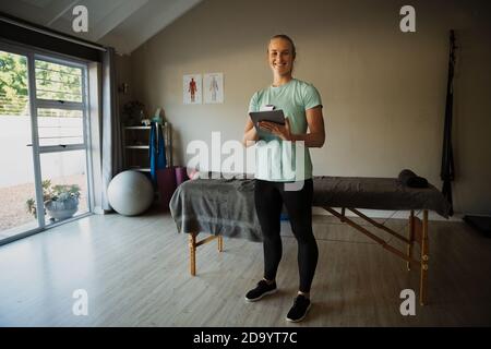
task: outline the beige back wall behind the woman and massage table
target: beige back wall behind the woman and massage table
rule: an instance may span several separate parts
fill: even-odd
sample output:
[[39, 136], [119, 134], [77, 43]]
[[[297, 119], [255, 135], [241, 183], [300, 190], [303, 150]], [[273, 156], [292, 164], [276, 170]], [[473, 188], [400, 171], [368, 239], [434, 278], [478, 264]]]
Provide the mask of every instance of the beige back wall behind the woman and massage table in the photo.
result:
[[[392, 0], [207, 0], [131, 56], [133, 96], [164, 107], [184, 164], [193, 140], [241, 140], [254, 91], [271, 83], [266, 44], [290, 35], [295, 76], [324, 101], [327, 142], [315, 174], [396, 177], [411, 168], [441, 188], [448, 29], [459, 45], [455, 80], [455, 210], [491, 213], [491, 29], [487, 1], [411, 1], [417, 33], [399, 31]], [[225, 104], [182, 103], [182, 75], [224, 72]]]

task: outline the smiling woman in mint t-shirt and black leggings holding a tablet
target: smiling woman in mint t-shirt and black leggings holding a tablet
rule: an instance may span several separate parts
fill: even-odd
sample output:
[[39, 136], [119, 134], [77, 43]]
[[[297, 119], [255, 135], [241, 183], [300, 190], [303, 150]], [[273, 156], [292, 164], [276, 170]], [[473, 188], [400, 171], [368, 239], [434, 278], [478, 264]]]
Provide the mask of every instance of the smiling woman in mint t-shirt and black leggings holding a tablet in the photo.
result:
[[[267, 58], [273, 84], [252, 96], [249, 112], [282, 109], [286, 122], [282, 125], [262, 121], [256, 129], [248, 118], [246, 124], [244, 145], [259, 141], [254, 198], [264, 239], [264, 278], [246, 294], [246, 300], [253, 302], [276, 292], [275, 278], [283, 252], [280, 214], [285, 204], [298, 242], [300, 275], [298, 294], [287, 321], [299, 322], [311, 305], [310, 288], [319, 256], [312, 232], [313, 182], [309, 147], [322, 147], [325, 141], [322, 101], [313, 85], [292, 76], [296, 49], [291, 38], [272, 37]], [[299, 156], [303, 160], [299, 161]]]

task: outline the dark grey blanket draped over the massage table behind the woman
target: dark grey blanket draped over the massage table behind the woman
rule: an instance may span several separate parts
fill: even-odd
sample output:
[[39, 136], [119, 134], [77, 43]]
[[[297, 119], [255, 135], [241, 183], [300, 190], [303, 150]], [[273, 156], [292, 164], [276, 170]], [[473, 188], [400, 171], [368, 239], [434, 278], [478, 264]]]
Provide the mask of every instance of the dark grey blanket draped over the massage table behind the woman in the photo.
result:
[[[448, 215], [448, 204], [434, 186], [407, 188], [392, 178], [315, 177], [313, 206], [429, 209]], [[187, 181], [176, 190], [169, 207], [179, 232], [262, 240], [252, 179]]]

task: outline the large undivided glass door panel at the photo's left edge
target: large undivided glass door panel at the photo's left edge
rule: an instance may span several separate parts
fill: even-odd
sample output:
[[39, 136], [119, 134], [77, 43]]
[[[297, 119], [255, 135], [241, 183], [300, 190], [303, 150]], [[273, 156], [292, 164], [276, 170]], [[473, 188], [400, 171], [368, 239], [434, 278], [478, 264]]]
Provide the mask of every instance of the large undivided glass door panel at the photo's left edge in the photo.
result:
[[27, 56], [0, 50], [0, 241], [39, 227], [27, 72]]

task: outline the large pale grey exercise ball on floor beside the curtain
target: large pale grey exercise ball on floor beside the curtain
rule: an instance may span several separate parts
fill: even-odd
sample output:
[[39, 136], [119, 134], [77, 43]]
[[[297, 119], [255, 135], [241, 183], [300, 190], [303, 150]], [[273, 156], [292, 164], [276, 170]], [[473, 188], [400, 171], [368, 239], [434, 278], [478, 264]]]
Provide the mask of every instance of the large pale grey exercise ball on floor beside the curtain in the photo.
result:
[[117, 213], [135, 216], [152, 205], [154, 188], [145, 174], [139, 171], [123, 171], [110, 181], [107, 196]]

